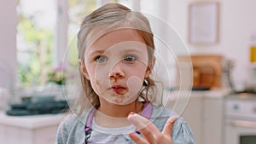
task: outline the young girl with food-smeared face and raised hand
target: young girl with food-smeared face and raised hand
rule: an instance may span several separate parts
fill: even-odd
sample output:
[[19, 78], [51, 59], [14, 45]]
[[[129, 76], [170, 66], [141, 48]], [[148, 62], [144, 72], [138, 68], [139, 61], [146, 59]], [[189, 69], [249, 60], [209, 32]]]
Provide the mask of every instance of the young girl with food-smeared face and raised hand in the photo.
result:
[[108, 3], [84, 18], [78, 38], [83, 95], [56, 143], [195, 143], [183, 118], [157, 102], [154, 36], [143, 14]]

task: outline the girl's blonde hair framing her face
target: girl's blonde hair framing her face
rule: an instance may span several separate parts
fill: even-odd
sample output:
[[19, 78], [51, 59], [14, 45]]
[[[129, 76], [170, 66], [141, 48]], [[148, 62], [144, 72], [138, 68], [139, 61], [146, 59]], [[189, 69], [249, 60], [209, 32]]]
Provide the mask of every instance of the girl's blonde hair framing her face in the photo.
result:
[[[90, 48], [99, 37], [104, 34], [119, 30], [119, 29], [135, 29], [143, 37], [148, 47], [148, 67], [153, 68], [154, 59], [154, 35], [148, 19], [141, 13], [133, 12], [131, 9], [118, 3], [108, 3], [94, 12], [86, 16], [78, 34], [78, 49], [79, 60], [84, 65], [84, 52], [85, 49]], [[80, 69], [80, 78], [83, 88], [83, 95], [79, 96], [79, 114], [87, 107], [100, 107], [98, 95], [92, 89], [90, 81], [86, 79]], [[151, 78], [146, 78], [147, 82], [143, 84], [141, 97], [144, 101], [154, 101], [154, 81]], [[84, 96], [85, 95], [85, 96]]]

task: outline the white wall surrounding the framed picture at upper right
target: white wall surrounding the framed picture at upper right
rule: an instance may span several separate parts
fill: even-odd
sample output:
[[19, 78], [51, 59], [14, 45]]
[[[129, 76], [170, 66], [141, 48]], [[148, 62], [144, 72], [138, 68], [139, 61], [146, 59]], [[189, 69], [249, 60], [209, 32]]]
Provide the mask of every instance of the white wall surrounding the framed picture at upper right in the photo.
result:
[[190, 54], [221, 54], [235, 60], [233, 78], [236, 86], [244, 83], [249, 66], [250, 37], [256, 34], [255, 0], [216, 0], [220, 3], [220, 34], [215, 45], [195, 46], [188, 43], [188, 8], [196, 0], [170, 0], [167, 21], [186, 42]]

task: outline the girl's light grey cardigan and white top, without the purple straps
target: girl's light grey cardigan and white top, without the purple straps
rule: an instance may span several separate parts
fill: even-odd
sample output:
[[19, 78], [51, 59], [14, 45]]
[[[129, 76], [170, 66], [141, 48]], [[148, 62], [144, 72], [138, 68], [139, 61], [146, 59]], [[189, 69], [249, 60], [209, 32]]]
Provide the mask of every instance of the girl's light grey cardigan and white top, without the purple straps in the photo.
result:
[[[76, 116], [75, 114], [67, 115], [59, 126], [55, 143], [82, 144], [85, 138], [84, 125], [89, 112], [90, 109], [85, 110], [81, 116]], [[168, 117], [172, 115], [176, 115], [176, 113], [170, 109], [166, 109], [164, 107], [153, 107], [153, 113], [150, 121], [154, 123], [161, 131], [163, 130]], [[102, 128], [101, 126], [93, 123], [92, 129], [93, 130], [88, 140], [93, 143], [135, 143], [131, 141], [128, 136], [128, 132], [135, 130], [133, 125], [109, 130], [108, 128]], [[117, 134], [118, 131], [120, 131], [120, 134]], [[195, 143], [195, 138], [189, 128], [189, 125], [183, 120], [182, 117], [177, 118], [177, 121], [174, 124], [172, 139], [174, 144]]]

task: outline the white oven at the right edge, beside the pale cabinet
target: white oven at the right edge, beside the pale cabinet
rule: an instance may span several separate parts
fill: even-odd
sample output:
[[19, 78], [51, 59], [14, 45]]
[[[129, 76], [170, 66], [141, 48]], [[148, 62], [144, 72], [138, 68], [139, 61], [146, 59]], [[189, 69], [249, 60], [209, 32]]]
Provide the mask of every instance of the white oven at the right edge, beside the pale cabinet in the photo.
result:
[[227, 96], [224, 118], [224, 144], [256, 143], [256, 94]]

